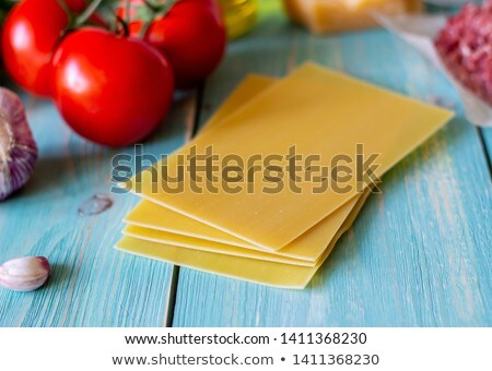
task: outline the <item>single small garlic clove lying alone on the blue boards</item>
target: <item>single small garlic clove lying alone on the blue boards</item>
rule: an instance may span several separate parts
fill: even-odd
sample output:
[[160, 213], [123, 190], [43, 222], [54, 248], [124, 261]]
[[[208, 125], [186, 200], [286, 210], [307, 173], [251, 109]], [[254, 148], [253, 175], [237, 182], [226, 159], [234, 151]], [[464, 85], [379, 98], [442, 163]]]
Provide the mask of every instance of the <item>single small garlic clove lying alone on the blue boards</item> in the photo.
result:
[[0, 286], [32, 291], [42, 287], [50, 273], [49, 262], [44, 256], [13, 259], [0, 265]]

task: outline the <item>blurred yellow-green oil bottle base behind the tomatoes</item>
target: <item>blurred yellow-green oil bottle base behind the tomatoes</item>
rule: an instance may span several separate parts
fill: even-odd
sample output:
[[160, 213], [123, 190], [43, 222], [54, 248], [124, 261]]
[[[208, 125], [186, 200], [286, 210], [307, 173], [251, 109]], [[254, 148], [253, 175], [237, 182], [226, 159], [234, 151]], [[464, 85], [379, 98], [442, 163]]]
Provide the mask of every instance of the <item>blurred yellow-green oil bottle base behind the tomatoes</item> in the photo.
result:
[[219, 0], [219, 2], [230, 39], [241, 37], [254, 27], [258, 12], [257, 0]]

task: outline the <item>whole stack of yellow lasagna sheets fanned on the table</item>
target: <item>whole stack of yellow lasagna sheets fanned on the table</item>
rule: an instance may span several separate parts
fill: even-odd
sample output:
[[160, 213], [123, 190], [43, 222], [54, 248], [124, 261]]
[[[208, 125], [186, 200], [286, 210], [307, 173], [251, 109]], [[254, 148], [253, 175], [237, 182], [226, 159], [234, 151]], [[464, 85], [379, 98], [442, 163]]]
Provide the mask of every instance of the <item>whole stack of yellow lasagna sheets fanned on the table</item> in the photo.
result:
[[[452, 116], [313, 63], [249, 75], [198, 136], [125, 184], [142, 200], [116, 248], [304, 288], [372, 182]], [[212, 177], [196, 171], [200, 155]]]

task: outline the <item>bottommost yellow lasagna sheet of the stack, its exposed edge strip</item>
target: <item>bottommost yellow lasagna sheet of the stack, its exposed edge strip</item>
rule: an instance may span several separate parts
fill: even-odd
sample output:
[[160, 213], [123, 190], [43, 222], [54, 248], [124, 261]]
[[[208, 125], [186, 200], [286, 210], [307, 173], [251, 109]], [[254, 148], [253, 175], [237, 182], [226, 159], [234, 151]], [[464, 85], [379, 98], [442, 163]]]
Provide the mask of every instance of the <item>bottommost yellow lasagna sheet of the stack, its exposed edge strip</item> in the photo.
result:
[[313, 267], [295, 266], [291, 264], [179, 248], [172, 244], [151, 242], [128, 236], [125, 236], [115, 248], [134, 255], [155, 259], [231, 278], [274, 287], [303, 289], [328, 258], [340, 236], [350, 228], [358, 216], [359, 211], [360, 208], [355, 208], [350, 214], [330, 241], [329, 246], [325, 249], [321, 259]]

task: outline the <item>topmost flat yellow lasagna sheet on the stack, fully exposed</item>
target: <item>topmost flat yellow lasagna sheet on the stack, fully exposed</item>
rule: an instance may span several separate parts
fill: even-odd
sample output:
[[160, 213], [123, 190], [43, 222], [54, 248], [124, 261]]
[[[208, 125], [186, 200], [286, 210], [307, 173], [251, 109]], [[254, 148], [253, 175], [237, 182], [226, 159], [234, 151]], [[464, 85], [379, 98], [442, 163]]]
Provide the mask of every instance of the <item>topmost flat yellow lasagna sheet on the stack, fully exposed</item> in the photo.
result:
[[[380, 177], [452, 116], [448, 110], [307, 63], [169, 156], [165, 170], [176, 176], [179, 156], [207, 153], [211, 144], [219, 158], [235, 154], [245, 160], [288, 154], [295, 145], [298, 156], [316, 154], [321, 164], [340, 154], [351, 158], [378, 154], [374, 173]], [[358, 154], [361, 148], [355, 143], [363, 145], [362, 153]], [[348, 164], [352, 173], [354, 164]], [[285, 168], [286, 159], [280, 166]], [[143, 171], [141, 181], [132, 179], [127, 185], [160, 205], [272, 250], [292, 242], [359, 190], [356, 178], [351, 177], [344, 184], [350, 189], [347, 192], [316, 193], [313, 188], [318, 184], [305, 180], [295, 191], [284, 187], [267, 193], [260, 173], [251, 182], [253, 190], [231, 193], [219, 187], [216, 192], [196, 192], [190, 185], [197, 183], [185, 172], [184, 191], [175, 194], [164, 191], [172, 185], [163, 169], [159, 163], [155, 172]]]

